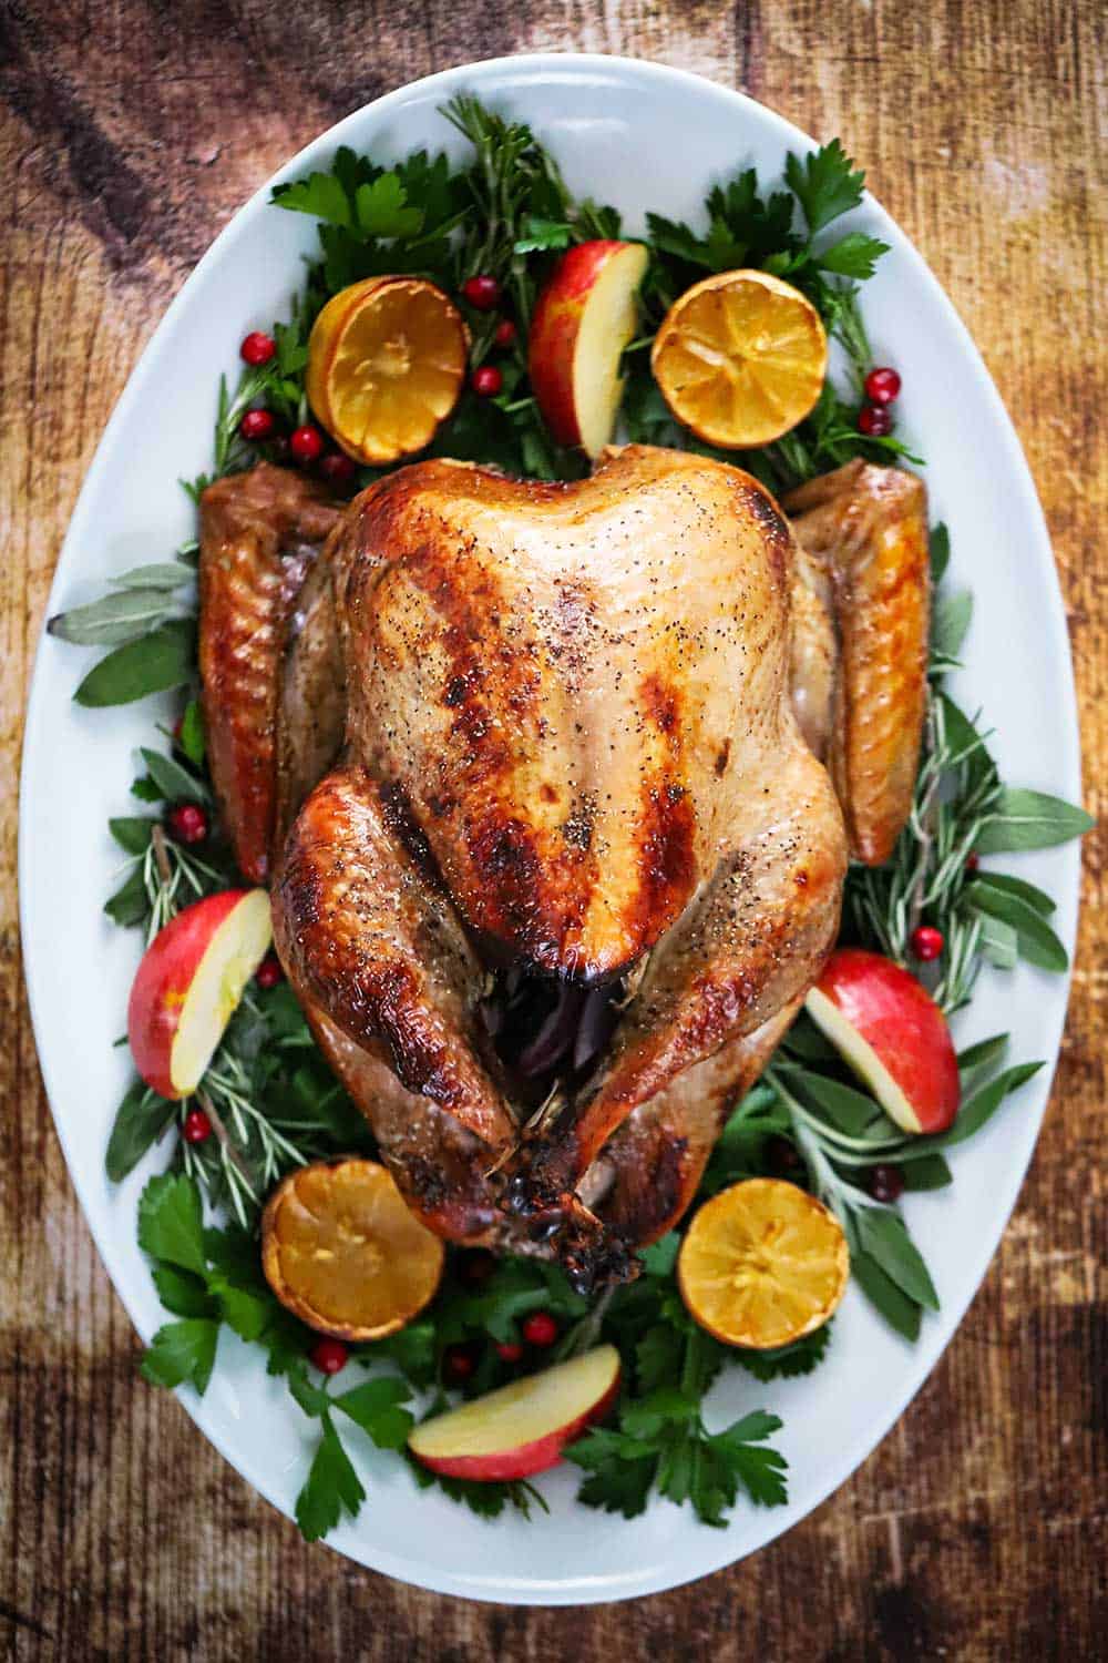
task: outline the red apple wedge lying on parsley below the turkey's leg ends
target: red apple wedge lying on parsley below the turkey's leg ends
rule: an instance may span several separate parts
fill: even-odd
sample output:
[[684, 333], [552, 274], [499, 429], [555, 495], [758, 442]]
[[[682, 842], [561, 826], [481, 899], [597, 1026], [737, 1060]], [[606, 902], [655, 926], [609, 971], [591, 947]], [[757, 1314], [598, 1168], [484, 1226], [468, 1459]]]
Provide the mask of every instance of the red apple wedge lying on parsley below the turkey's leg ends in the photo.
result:
[[449, 1478], [530, 1478], [555, 1467], [566, 1443], [606, 1414], [618, 1390], [620, 1352], [598, 1345], [424, 1420], [409, 1448]]

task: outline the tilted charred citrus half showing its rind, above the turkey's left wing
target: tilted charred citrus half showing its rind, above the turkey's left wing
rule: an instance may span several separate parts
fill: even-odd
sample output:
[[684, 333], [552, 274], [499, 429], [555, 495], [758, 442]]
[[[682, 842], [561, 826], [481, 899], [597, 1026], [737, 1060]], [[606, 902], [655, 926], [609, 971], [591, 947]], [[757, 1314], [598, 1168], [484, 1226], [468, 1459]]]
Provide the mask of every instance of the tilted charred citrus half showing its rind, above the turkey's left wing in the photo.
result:
[[365, 278], [327, 301], [307, 343], [307, 399], [362, 462], [422, 451], [458, 401], [468, 336], [424, 278]]

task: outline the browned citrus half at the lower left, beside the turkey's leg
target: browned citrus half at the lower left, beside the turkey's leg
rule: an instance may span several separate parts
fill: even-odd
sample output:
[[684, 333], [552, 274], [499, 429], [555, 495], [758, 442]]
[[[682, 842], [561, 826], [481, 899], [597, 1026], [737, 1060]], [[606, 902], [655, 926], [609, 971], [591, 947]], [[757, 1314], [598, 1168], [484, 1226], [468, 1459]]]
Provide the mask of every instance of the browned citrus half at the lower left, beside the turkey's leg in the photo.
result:
[[262, 1269], [282, 1305], [322, 1334], [379, 1340], [434, 1297], [444, 1246], [375, 1161], [316, 1161], [277, 1186]]

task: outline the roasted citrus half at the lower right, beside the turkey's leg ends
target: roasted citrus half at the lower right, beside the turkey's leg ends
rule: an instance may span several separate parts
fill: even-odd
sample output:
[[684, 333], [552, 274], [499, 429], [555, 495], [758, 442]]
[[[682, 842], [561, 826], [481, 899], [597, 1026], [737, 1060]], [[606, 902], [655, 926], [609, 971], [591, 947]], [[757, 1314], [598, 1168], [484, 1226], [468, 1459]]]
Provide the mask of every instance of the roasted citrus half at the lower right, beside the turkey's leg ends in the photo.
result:
[[811, 1334], [846, 1292], [851, 1256], [821, 1201], [751, 1177], [706, 1201], [678, 1257], [681, 1299], [726, 1345], [759, 1350]]

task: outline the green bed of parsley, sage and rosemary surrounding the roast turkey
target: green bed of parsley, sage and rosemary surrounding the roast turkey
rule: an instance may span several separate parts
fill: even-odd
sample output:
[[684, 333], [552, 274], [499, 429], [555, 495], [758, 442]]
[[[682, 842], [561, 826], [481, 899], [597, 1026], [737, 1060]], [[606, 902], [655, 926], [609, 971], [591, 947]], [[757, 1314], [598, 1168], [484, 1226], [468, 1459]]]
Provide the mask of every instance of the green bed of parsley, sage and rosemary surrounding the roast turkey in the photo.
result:
[[[234, 389], [219, 382], [213, 471], [186, 489], [203, 487], [249, 467], [259, 456], [284, 461], [284, 437], [311, 419], [304, 396], [307, 336], [327, 298], [379, 273], [417, 273], [458, 298], [473, 274], [493, 276], [505, 311], [517, 323], [515, 343], [497, 353], [503, 384], [495, 399], [472, 391], [440, 427], [427, 454], [473, 459], [512, 474], [573, 479], [585, 472], [578, 452], [552, 442], [527, 378], [527, 328], [537, 293], [560, 249], [596, 236], [618, 236], [615, 208], [573, 201], [555, 160], [530, 130], [505, 123], [477, 100], [460, 96], [442, 111], [472, 146], [467, 165], [417, 151], [382, 168], [351, 150], [336, 153], [331, 171], [277, 186], [274, 206], [319, 221], [319, 258], [287, 321], [274, 324], [276, 356], [243, 371]], [[862, 379], [872, 368], [859, 309], [860, 284], [872, 276], [885, 244], [836, 221], [862, 198], [864, 176], [841, 145], [786, 163], [786, 186], [762, 195], [753, 170], [718, 185], [706, 201], [704, 233], [648, 215], [650, 266], [641, 289], [641, 329], [626, 351], [623, 422], [630, 439], [679, 446], [739, 462], [772, 491], [786, 491], [854, 456], [920, 464], [895, 437], [857, 431]], [[846, 363], [841, 386], [827, 381], [797, 429], [761, 451], [713, 452], [681, 429], [650, 374], [650, 344], [671, 301], [706, 273], [759, 266], [796, 284], [817, 306]], [[495, 351], [497, 314], [458, 299], [472, 331], [470, 368]], [[277, 417], [271, 444], [248, 444], [243, 414], [264, 404]], [[365, 486], [379, 474], [360, 469]], [[125, 855], [125, 873], [108, 900], [108, 915], [151, 938], [181, 906], [241, 876], [211, 820], [214, 805], [196, 702], [198, 545], [174, 559], [126, 572], [105, 599], [78, 607], [50, 629], [66, 640], [108, 647], [76, 690], [83, 705], [118, 705], [150, 693], [179, 690], [183, 717], [174, 732], [151, 732], [131, 792], [141, 810], [113, 818], [111, 835]], [[935, 609], [930, 697], [915, 807], [892, 860], [879, 868], [852, 866], [847, 878], [842, 940], [909, 963], [909, 938], [925, 921], [942, 931], [942, 956], [925, 980], [944, 1011], [965, 1006], [983, 963], [1012, 970], [1018, 958], [1052, 971], [1066, 953], [1050, 926], [1050, 896], [977, 861], [1043, 848], [1088, 830], [1081, 810], [1037, 792], [1002, 783], [987, 733], [944, 690], [958, 664], [972, 597], [945, 582], [949, 540], [932, 534]], [[213, 825], [198, 848], [163, 830], [171, 805], [198, 803]], [[920, 971], [920, 966], [912, 965]], [[877, 1103], [847, 1076], [814, 1024], [801, 1016], [762, 1079], [734, 1108], [711, 1157], [701, 1197], [738, 1179], [772, 1174], [806, 1184], [841, 1219], [854, 1279], [880, 1315], [915, 1340], [939, 1299], [919, 1247], [895, 1206], [882, 1206], [865, 1187], [874, 1164], [900, 1167], [909, 1191], [952, 1182], [949, 1152], [972, 1137], [1042, 1064], [1007, 1064], [1008, 1036], [998, 1034], [958, 1058], [963, 1103], [950, 1131], [905, 1137]], [[346, 1440], [367, 1435], [404, 1455], [414, 1424], [414, 1395], [425, 1412], [445, 1402], [444, 1354], [457, 1344], [477, 1359], [463, 1395], [472, 1397], [610, 1340], [623, 1359], [623, 1394], [611, 1425], [591, 1430], [570, 1452], [581, 1468], [578, 1500], [633, 1517], [658, 1490], [689, 1503], [706, 1523], [723, 1527], [743, 1495], [762, 1507], [786, 1500], [786, 1462], [769, 1442], [781, 1420], [759, 1409], [721, 1432], [709, 1432], [703, 1407], [724, 1369], [744, 1369], [766, 1387], [777, 1377], [809, 1374], [832, 1344], [831, 1325], [779, 1352], [743, 1352], [718, 1344], [681, 1304], [674, 1282], [679, 1232], [641, 1254], [643, 1276], [591, 1305], [563, 1274], [533, 1259], [490, 1267], [482, 1256], [450, 1249], [447, 1274], [429, 1312], [392, 1339], [352, 1349], [342, 1387], [309, 1365], [314, 1335], [266, 1285], [257, 1252], [261, 1204], [297, 1162], [337, 1152], [372, 1154], [367, 1124], [336, 1084], [307, 1031], [287, 984], [254, 984], [236, 1013], [198, 1098], [214, 1136], [189, 1144], [178, 1136], [196, 1099], [168, 1103], [136, 1083], [120, 1104], [106, 1151], [108, 1174], [123, 1179], [166, 1134], [169, 1171], [150, 1181], [138, 1212], [138, 1239], [169, 1320], [145, 1355], [148, 1380], [204, 1392], [226, 1325], [259, 1345], [269, 1374], [281, 1375], [299, 1409], [319, 1424], [319, 1442], [296, 1517], [309, 1540], [355, 1515], [365, 1490]], [[223, 1216], [223, 1227], [204, 1226]], [[520, 1320], [547, 1310], [558, 1322], [552, 1350], [525, 1350], [503, 1362], [497, 1342], [518, 1340]], [[362, 1377], [362, 1370], [372, 1370]], [[351, 1379], [359, 1384], [349, 1385]], [[430, 1402], [427, 1402], [427, 1394]], [[767, 1394], [771, 1397], [771, 1394]], [[437, 1478], [409, 1458], [414, 1480], [439, 1485], [475, 1513], [505, 1507], [523, 1517], [545, 1508], [528, 1483], [473, 1483]]]

